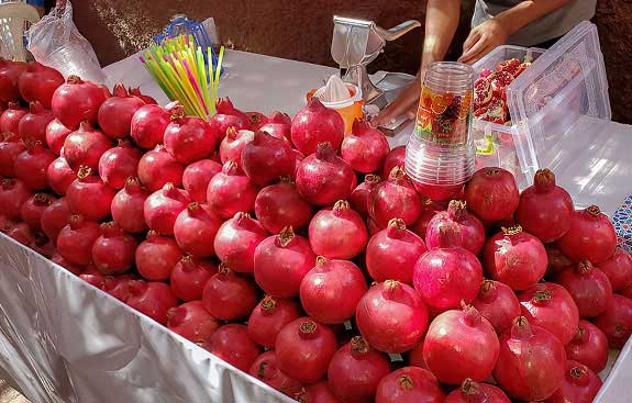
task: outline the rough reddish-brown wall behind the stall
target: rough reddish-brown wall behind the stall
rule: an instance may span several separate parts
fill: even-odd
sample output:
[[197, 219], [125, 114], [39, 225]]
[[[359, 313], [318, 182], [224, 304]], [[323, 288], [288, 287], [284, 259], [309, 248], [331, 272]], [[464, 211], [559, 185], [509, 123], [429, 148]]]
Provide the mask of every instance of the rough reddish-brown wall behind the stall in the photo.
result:
[[[473, 1], [463, 2], [462, 24], [448, 58], [459, 54], [467, 35]], [[176, 13], [203, 20], [210, 15], [224, 43], [235, 48], [317, 64], [333, 65], [330, 55], [332, 15], [376, 21], [385, 27], [403, 20], [423, 21], [421, 0], [73, 0], [75, 21], [93, 44], [102, 65], [146, 46]], [[614, 119], [632, 123], [632, 2], [599, 0], [602, 51], [610, 80]], [[423, 30], [391, 43], [372, 66], [413, 72], [419, 66]]]

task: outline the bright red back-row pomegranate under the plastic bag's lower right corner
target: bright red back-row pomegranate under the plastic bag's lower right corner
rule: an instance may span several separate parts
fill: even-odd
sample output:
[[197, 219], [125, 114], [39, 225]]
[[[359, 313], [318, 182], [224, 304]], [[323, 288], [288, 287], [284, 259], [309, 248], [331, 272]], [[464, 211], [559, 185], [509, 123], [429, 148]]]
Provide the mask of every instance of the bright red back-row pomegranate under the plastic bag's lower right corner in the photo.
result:
[[66, 83], [59, 86], [53, 93], [51, 105], [55, 117], [64, 126], [77, 130], [79, 123], [84, 121], [88, 121], [91, 125], [97, 123], [99, 108], [109, 97], [107, 88], [70, 76]]

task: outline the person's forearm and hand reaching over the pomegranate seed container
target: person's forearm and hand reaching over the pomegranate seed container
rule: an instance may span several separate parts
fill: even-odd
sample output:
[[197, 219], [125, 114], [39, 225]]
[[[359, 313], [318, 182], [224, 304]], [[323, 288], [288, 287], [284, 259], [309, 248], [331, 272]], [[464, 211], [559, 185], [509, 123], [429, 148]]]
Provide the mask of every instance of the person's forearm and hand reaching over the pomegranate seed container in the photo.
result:
[[506, 10], [476, 26], [463, 44], [461, 63], [474, 64], [524, 25], [569, 3], [572, 0], [530, 0]]

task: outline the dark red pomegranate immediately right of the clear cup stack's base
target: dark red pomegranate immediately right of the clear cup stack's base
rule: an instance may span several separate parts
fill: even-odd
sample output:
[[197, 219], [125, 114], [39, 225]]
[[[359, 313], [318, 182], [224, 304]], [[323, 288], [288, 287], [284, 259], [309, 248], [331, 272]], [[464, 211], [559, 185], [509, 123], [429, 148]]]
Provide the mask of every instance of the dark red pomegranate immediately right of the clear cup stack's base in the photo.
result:
[[511, 172], [486, 167], [477, 170], [465, 189], [468, 209], [480, 220], [495, 222], [511, 217], [520, 195]]

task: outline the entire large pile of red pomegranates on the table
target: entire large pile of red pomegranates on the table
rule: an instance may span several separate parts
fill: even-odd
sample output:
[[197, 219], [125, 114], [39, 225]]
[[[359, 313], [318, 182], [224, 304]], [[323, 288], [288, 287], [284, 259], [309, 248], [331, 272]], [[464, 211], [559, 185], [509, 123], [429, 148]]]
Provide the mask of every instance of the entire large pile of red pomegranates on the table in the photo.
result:
[[0, 63], [0, 228], [301, 403], [591, 402], [632, 257], [552, 171], [422, 199], [317, 99], [210, 122]]

